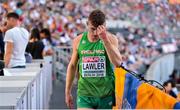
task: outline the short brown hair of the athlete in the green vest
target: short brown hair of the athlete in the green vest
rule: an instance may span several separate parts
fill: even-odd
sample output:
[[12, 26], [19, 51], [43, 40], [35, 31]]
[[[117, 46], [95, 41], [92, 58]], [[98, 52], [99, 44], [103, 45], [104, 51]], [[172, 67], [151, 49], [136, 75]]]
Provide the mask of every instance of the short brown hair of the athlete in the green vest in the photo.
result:
[[92, 11], [88, 17], [88, 20], [91, 22], [91, 24], [94, 27], [103, 25], [105, 23], [105, 19], [106, 19], [105, 14], [99, 9]]

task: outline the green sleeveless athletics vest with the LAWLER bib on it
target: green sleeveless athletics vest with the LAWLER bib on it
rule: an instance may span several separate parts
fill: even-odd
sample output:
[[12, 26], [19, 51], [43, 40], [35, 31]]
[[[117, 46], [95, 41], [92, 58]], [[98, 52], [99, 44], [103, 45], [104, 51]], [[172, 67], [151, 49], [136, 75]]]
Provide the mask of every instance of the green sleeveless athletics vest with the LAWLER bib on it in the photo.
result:
[[78, 95], [105, 97], [114, 92], [113, 66], [109, 61], [102, 40], [89, 42], [84, 32], [78, 47]]

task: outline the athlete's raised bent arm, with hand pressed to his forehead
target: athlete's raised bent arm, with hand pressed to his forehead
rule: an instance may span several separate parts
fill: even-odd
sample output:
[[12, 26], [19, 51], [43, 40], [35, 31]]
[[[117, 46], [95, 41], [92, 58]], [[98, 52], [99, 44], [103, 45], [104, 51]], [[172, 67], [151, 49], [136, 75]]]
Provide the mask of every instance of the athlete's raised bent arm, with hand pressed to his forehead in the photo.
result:
[[111, 63], [115, 67], [120, 66], [122, 57], [118, 49], [118, 39], [116, 38], [116, 36], [108, 33], [104, 25], [98, 26], [97, 33], [100, 39], [102, 39], [104, 42], [104, 46]]

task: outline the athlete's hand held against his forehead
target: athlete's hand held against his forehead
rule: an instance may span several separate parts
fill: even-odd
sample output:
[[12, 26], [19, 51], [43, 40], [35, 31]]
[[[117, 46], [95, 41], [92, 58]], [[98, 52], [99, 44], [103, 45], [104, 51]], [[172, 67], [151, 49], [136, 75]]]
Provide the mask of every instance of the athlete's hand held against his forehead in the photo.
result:
[[97, 34], [101, 40], [103, 41], [108, 40], [106, 27], [104, 25], [100, 25], [97, 27]]

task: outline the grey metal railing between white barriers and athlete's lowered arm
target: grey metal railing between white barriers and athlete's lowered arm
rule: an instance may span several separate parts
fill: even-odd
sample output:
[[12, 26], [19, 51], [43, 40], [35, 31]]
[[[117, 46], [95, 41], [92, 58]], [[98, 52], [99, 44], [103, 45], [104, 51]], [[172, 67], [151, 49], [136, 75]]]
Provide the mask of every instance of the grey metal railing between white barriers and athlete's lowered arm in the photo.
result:
[[71, 59], [72, 47], [54, 47], [53, 73], [56, 79], [65, 81], [66, 70]]

